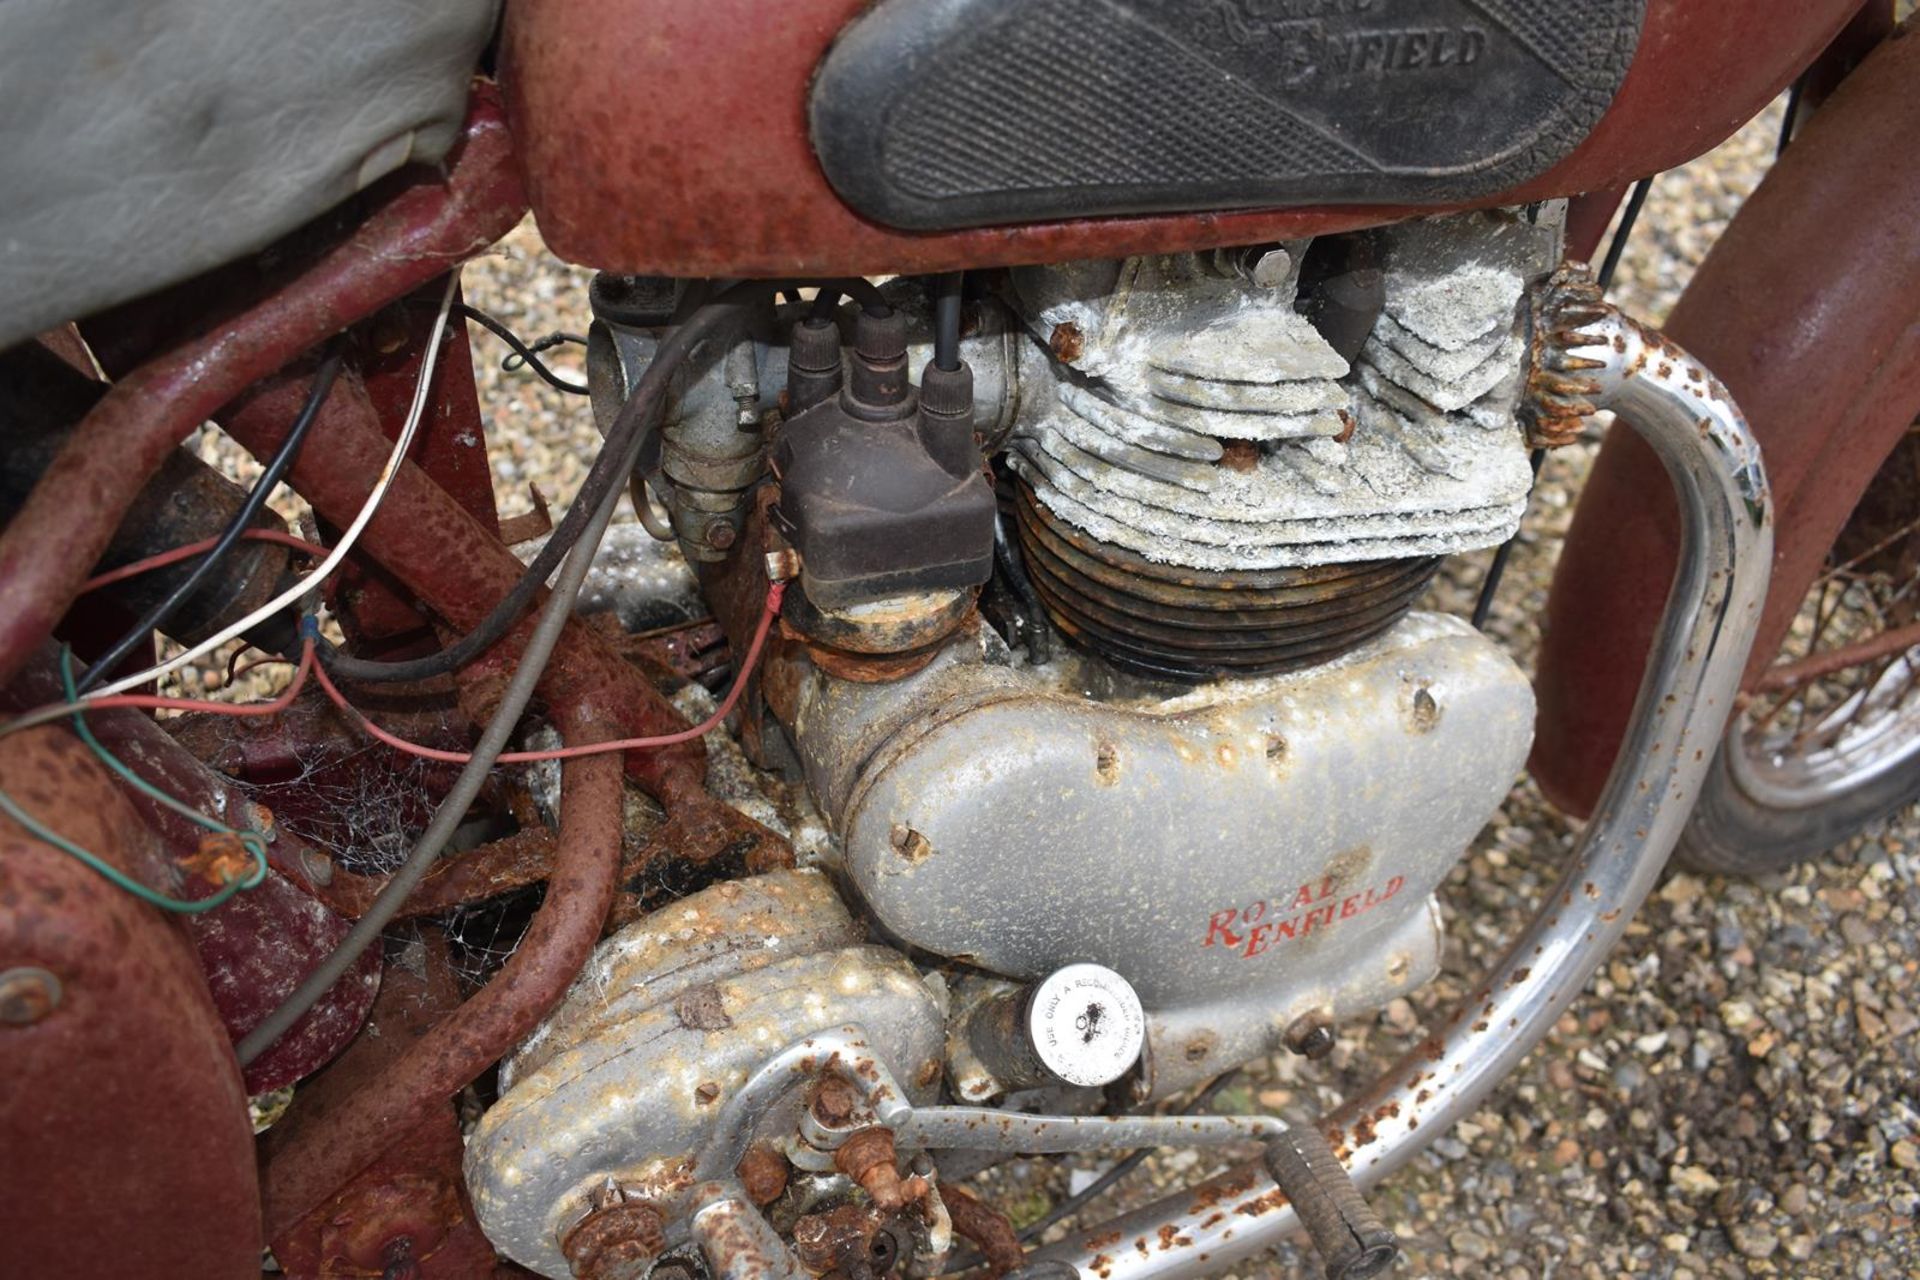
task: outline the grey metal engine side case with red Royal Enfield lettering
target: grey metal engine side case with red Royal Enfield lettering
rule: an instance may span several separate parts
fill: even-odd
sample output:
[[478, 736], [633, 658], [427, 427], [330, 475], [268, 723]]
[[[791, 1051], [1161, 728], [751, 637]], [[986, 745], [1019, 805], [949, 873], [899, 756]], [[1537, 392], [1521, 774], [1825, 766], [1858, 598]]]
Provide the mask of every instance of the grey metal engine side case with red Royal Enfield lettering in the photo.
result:
[[885, 929], [1012, 979], [1119, 971], [1146, 1096], [1432, 977], [1430, 894], [1532, 741], [1496, 645], [1409, 614], [1309, 672], [1171, 699], [1096, 700], [1087, 676], [981, 629], [895, 683], [806, 677], [799, 754]]

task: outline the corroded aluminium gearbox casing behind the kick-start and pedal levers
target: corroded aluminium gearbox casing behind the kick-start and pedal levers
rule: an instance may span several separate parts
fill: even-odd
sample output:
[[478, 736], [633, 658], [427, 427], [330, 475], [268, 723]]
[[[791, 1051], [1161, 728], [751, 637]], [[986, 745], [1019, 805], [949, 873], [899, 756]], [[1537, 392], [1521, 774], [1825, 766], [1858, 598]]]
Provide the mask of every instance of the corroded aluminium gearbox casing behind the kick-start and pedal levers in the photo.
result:
[[[860, 1021], [916, 1098], [939, 1080], [945, 1009], [918, 971], [862, 942], [818, 871], [716, 885], [601, 944], [501, 1073], [467, 1153], [474, 1211], [509, 1257], [566, 1276], [566, 1232], [609, 1180], [660, 1203], [687, 1153], [783, 1046]], [[799, 1090], [766, 1115], [793, 1132]], [[758, 1117], [756, 1117], [758, 1119]]]

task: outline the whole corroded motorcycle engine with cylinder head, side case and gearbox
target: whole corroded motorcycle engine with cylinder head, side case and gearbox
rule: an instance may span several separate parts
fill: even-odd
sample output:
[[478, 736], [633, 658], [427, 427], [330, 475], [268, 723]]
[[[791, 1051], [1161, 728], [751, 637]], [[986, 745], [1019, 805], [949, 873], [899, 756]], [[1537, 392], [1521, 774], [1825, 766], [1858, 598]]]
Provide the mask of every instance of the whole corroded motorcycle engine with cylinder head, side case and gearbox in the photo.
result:
[[[1519, 526], [1523, 299], [1559, 248], [1548, 205], [1020, 269], [966, 299], [958, 368], [950, 299], [900, 280], [695, 363], [651, 480], [710, 599], [741, 533], [799, 562], [743, 739], [833, 848], [603, 942], [468, 1144], [488, 1236], [589, 1274], [568, 1242], [676, 1203], [755, 1071], [835, 1027], [916, 1102], [1085, 1111], [1427, 983], [1534, 706], [1413, 606]], [[670, 315], [647, 288], [595, 286], [603, 415]], [[756, 1132], [820, 1169], [801, 1109]]]

